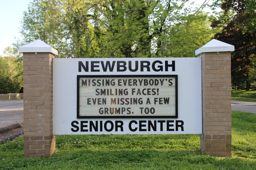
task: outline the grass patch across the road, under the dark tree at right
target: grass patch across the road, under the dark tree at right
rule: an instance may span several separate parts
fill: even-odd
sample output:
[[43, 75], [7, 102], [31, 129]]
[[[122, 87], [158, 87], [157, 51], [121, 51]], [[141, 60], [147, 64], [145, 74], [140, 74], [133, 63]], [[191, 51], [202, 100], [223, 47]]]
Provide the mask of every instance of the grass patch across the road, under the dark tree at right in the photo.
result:
[[251, 101], [256, 102], [256, 89], [250, 91], [245, 90], [232, 90], [231, 99], [239, 101]]

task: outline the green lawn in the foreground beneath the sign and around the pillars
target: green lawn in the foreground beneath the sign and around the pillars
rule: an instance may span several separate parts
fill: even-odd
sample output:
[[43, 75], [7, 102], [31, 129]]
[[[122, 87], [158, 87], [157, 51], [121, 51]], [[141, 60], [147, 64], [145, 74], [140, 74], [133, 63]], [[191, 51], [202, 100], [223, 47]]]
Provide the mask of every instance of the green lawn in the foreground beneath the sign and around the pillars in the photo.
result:
[[0, 169], [255, 170], [256, 115], [232, 111], [232, 158], [205, 155], [199, 135], [58, 135], [56, 153], [24, 158], [23, 137], [0, 145]]

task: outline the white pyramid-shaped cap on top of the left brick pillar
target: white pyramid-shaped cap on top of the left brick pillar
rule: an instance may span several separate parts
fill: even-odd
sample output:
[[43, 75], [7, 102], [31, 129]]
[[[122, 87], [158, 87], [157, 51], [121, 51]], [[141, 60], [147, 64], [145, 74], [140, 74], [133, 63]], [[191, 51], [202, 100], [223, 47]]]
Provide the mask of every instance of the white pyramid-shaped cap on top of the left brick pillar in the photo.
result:
[[33, 41], [20, 47], [20, 53], [50, 53], [58, 55], [58, 51], [41, 40]]

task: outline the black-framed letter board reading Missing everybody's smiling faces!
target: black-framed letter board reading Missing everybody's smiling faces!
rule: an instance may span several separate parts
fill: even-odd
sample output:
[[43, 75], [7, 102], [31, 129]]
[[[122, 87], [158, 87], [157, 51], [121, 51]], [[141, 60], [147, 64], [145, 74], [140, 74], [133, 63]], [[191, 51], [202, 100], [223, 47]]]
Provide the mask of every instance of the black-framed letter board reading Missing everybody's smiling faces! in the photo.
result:
[[77, 118], [178, 118], [177, 75], [77, 76]]

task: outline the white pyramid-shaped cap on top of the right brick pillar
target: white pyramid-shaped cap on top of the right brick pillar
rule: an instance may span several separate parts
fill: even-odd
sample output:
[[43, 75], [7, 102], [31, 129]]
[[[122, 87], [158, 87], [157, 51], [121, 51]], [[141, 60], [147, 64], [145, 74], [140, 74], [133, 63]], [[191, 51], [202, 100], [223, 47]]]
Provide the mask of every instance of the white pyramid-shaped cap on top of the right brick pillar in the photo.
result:
[[202, 53], [209, 53], [209, 52], [225, 52], [225, 51], [235, 51], [235, 46], [230, 45], [228, 43], [212, 39], [204, 46], [198, 48], [195, 51], [195, 55], [199, 55]]

